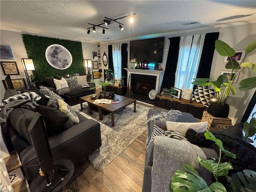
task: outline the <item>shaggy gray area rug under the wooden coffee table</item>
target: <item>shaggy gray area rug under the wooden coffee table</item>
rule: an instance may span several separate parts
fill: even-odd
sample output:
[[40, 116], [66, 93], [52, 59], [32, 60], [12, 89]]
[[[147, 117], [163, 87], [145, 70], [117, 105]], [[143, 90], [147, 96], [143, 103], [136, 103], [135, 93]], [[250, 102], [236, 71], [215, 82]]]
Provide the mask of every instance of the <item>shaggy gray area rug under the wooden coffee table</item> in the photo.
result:
[[80, 104], [72, 106], [72, 108], [86, 118], [100, 122], [102, 139], [100, 152], [96, 150], [88, 157], [92, 166], [98, 171], [103, 170], [146, 130], [145, 122], [150, 109], [136, 104], [136, 113], [134, 113], [134, 104], [130, 104], [115, 112], [115, 126], [112, 127], [111, 114], [103, 115], [103, 120], [100, 121], [98, 112], [92, 110], [92, 114], [88, 114], [88, 104], [86, 102], [83, 103], [83, 110], [80, 110]]

